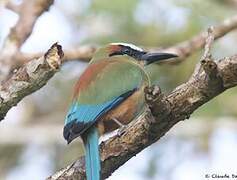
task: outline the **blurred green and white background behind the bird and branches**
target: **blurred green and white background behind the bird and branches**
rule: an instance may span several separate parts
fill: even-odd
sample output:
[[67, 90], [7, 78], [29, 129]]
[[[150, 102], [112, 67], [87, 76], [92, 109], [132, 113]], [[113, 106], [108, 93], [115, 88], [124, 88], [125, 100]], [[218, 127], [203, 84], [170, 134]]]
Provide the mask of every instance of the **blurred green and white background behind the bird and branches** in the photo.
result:
[[[234, 16], [236, 10], [235, 0], [56, 0], [22, 51], [46, 51], [55, 41], [64, 49], [110, 42], [166, 48]], [[0, 45], [17, 18], [0, 8]], [[213, 56], [235, 54], [236, 41], [236, 31], [215, 41]], [[168, 93], [188, 80], [201, 55], [202, 50], [176, 65], [154, 65], [152, 78]], [[66, 145], [62, 127], [73, 84], [86, 66], [66, 63], [45, 87], [7, 114], [0, 125], [0, 179], [44, 179], [83, 155], [80, 140]], [[233, 88], [206, 103], [109, 179], [199, 180], [208, 173], [235, 173], [236, 99]]]

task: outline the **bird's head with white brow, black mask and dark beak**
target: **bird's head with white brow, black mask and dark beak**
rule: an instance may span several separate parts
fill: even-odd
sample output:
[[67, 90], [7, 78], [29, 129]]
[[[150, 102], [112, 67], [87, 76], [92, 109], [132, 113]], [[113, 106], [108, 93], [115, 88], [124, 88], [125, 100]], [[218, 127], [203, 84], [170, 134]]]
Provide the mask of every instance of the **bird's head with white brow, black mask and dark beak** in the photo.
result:
[[178, 57], [177, 55], [171, 53], [147, 52], [142, 48], [137, 47], [133, 44], [110, 43], [107, 46], [97, 50], [92, 59], [92, 62], [112, 56], [123, 56], [123, 55], [132, 57], [134, 60], [143, 62], [145, 65], [158, 62], [161, 60]]

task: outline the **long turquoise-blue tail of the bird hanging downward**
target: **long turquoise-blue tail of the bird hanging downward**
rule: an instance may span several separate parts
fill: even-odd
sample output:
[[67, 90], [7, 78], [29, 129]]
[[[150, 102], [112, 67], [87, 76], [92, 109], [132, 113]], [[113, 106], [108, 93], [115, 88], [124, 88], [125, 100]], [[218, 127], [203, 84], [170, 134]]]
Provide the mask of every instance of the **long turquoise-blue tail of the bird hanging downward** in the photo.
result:
[[83, 134], [86, 148], [86, 177], [87, 180], [100, 180], [99, 136], [96, 127], [91, 127]]

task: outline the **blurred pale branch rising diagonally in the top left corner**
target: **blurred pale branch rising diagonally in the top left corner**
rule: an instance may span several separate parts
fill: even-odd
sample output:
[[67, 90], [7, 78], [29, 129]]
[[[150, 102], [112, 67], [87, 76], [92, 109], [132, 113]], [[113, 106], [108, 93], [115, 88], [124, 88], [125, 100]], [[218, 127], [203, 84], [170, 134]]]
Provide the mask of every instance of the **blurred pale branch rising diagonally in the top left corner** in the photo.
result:
[[20, 47], [32, 33], [36, 20], [53, 2], [54, 0], [25, 0], [19, 6], [14, 6], [10, 2], [6, 4], [19, 14], [19, 19], [11, 28], [0, 51], [0, 81], [9, 76]]

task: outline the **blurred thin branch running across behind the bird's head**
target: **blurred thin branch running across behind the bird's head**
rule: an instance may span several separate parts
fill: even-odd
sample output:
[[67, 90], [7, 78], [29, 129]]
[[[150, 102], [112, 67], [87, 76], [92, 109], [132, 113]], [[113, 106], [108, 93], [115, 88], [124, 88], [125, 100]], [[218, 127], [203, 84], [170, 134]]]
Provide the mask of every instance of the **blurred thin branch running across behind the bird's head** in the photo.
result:
[[[229, 19], [226, 19], [221, 24], [214, 27], [214, 39], [221, 38], [222, 36], [226, 35], [227, 33], [235, 30], [237, 28], [237, 15], [233, 16]], [[185, 60], [187, 57], [192, 55], [197, 50], [200, 50], [205, 45], [205, 37], [206, 37], [206, 31], [201, 32], [200, 34], [194, 36], [193, 38], [178, 43], [174, 46], [171, 46], [169, 48], [162, 49], [164, 52], [170, 52], [177, 54], [179, 58], [177, 58], [176, 61], [167, 61], [168, 63], [175, 64], [177, 62], [181, 62]], [[150, 48], [151, 50], [158, 50], [161, 51], [161, 49], [157, 48]], [[77, 47], [75, 49], [71, 50], [65, 50], [65, 58], [64, 62], [67, 61], [73, 61], [73, 60], [80, 60], [80, 61], [89, 61], [93, 53], [95, 52], [96, 47], [94, 46], [86, 46], [86, 47]], [[22, 64], [23, 62], [29, 61], [32, 59], [32, 57], [39, 57], [42, 53], [36, 53], [36, 54], [20, 54], [16, 56], [16, 62], [19, 64]], [[164, 63], [167, 63], [164, 62]]]

